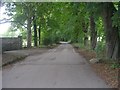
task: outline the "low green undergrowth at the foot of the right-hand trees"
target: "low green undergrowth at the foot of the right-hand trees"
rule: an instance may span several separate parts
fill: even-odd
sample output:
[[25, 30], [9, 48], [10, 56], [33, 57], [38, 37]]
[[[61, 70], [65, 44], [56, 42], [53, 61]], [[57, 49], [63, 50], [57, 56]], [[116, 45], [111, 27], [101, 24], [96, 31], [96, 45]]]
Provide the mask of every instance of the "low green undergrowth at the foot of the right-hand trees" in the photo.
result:
[[83, 44], [79, 43], [74, 43], [73, 46], [74, 48], [82, 49], [88, 53], [95, 53], [95, 57], [100, 59], [100, 63], [108, 64], [112, 69], [120, 68], [120, 62], [118, 62], [119, 60], [106, 59], [105, 45], [102, 45], [101, 43], [96, 46], [95, 50], [91, 50], [89, 47], [85, 47]]

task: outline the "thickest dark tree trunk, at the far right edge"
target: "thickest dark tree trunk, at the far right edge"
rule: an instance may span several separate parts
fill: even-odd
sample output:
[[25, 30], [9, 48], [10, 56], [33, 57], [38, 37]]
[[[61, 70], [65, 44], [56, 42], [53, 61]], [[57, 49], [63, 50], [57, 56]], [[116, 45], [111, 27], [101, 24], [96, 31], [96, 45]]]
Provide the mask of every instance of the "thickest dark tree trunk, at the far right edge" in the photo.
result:
[[120, 58], [120, 36], [117, 27], [112, 26], [112, 16], [115, 8], [112, 2], [104, 3], [102, 13], [106, 35], [106, 56], [108, 59]]

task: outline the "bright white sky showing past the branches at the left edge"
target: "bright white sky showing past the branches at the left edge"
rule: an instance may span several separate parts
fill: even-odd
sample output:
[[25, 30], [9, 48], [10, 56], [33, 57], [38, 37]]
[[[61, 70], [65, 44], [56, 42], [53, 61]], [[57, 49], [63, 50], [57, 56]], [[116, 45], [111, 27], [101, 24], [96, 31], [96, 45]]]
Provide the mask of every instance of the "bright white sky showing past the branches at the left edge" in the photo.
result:
[[[1, 7], [0, 8], [0, 20], [3, 18], [8, 18], [7, 15], [3, 14], [4, 12], [5, 12], [5, 7]], [[10, 23], [0, 24], [0, 35], [6, 33], [10, 25], [11, 25]]]

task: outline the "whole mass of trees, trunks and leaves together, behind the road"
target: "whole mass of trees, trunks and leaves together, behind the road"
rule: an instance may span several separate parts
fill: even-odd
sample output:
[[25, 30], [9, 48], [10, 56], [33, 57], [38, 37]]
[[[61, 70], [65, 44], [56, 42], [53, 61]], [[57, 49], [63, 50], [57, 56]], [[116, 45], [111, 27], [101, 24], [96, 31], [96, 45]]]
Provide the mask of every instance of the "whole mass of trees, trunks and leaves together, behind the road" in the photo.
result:
[[[4, 3], [11, 30], [20, 30], [27, 47], [59, 41], [80, 43], [120, 58], [120, 2]], [[5, 21], [6, 22], [6, 21]]]

